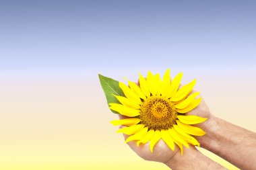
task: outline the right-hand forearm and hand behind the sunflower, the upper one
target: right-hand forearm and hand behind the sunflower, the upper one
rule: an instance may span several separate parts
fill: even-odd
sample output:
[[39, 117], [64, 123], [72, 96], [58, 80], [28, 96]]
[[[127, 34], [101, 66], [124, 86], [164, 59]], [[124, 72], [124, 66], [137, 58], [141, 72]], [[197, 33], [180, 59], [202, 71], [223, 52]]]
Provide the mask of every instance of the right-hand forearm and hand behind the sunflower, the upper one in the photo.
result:
[[205, 101], [188, 114], [207, 118], [197, 124], [204, 136], [195, 136], [202, 148], [215, 153], [240, 169], [256, 169], [256, 133], [211, 114]]

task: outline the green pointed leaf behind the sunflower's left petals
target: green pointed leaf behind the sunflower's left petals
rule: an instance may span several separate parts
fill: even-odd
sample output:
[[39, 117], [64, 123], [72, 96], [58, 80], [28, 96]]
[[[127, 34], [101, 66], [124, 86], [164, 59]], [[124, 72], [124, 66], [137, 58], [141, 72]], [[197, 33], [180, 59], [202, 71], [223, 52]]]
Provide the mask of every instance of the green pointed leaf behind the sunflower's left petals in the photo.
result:
[[[120, 103], [117, 98], [114, 95], [121, 95], [125, 96], [122, 89], [119, 87], [119, 82], [110, 79], [108, 77], [104, 77], [103, 75], [98, 75], [98, 78], [100, 79], [101, 87], [106, 95], [106, 101], [109, 103]], [[115, 112], [114, 110], [111, 110], [111, 112], [118, 114], [118, 112]]]

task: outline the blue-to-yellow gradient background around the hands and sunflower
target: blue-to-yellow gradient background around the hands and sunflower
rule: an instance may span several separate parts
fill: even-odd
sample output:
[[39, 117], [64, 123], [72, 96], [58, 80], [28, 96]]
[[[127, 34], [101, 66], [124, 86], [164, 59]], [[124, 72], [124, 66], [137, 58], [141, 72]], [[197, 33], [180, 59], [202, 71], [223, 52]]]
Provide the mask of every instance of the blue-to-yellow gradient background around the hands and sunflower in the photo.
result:
[[115, 133], [98, 73], [125, 82], [183, 71], [216, 116], [256, 132], [255, 9], [255, 1], [0, 1], [0, 169], [168, 169]]

